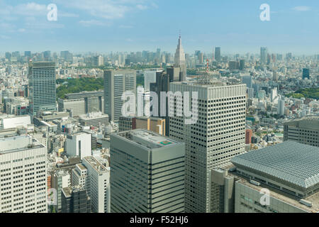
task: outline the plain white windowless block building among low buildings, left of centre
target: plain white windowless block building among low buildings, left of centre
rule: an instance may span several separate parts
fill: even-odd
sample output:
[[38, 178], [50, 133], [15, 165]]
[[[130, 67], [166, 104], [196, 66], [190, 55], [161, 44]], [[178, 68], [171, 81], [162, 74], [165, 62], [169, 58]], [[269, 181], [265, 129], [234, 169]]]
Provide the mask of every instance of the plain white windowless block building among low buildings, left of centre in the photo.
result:
[[78, 132], [67, 135], [66, 146], [69, 157], [79, 156], [82, 160], [84, 157], [91, 156], [91, 134]]

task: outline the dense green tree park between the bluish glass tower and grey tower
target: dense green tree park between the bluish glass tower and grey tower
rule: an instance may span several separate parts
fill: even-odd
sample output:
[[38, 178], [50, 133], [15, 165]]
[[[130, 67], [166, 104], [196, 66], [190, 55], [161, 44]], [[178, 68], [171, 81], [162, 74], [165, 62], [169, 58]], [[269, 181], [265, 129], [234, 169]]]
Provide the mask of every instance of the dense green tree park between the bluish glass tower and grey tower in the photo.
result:
[[103, 89], [102, 78], [57, 79], [57, 84], [57, 98], [60, 99], [65, 99], [65, 94]]

